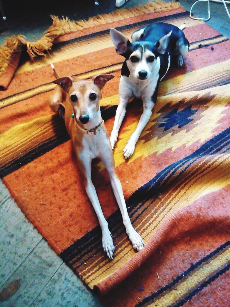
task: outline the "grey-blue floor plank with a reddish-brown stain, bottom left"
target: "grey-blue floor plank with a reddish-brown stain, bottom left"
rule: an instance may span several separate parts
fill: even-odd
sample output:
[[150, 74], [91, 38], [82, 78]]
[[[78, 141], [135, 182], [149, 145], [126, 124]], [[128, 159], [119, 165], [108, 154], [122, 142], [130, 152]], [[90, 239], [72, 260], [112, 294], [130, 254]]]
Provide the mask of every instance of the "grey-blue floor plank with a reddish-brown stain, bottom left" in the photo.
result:
[[62, 264], [45, 240], [27, 255], [0, 289], [3, 306], [30, 306]]

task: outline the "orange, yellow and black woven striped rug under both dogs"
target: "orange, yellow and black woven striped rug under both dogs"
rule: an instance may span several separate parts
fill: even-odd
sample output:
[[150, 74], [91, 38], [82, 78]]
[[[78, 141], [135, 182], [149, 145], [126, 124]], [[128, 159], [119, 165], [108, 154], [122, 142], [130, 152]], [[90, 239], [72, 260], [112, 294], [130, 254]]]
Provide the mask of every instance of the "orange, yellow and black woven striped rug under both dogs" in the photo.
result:
[[[230, 41], [190, 19], [178, 3], [150, 3], [119, 14], [93, 18], [56, 38], [47, 57], [33, 63], [21, 59], [0, 94], [1, 178], [63, 261], [104, 295], [105, 305], [228, 306]], [[54, 88], [49, 64], [55, 64], [60, 76], [115, 75], [101, 100], [110, 133], [123, 59], [112, 46], [109, 29], [130, 37], [155, 21], [185, 22], [190, 51], [184, 66], [172, 65], [161, 81], [152, 117], [132, 157], [125, 161], [122, 150], [137, 126], [141, 101], [128, 104], [114, 149], [129, 216], [145, 241], [142, 251], [136, 253], [125, 234], [103, 165], [93, 165], [92, 180], [116, 247], [109, 261], [63, 120], [48, 106]]]

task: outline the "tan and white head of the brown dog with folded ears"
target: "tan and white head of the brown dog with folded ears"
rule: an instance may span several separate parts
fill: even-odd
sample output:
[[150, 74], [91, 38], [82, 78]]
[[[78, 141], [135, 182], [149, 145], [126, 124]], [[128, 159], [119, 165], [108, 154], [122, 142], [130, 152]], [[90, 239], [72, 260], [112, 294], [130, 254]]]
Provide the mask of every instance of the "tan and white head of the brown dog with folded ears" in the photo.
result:
[[113, 78], [114, 76], [106, 74], [96, 75], [91, 81], [80, 79], [74, 81], [71, 77], [63, 77], [53, 83], [58, 84], [66, 92], [66, 99], [69, 99], [73, 106], [76, 120], [81, 124], [86, 124], [99, 110], [101, 89], [107, 81]]

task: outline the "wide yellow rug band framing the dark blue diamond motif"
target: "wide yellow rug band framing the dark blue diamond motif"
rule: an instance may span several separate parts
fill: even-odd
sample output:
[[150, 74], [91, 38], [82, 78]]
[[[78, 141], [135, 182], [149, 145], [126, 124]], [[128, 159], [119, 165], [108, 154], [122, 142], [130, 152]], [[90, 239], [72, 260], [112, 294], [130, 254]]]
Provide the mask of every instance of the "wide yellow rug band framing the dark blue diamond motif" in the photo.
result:
[[[198, 93], [200, 96], [205, 93], [210, 92], [210, 89], [192, 92], [192, 93], [180, 93], [168, 96], [162, 96], [158, 98], [158, 103], [155, 106], [151, 120], [148, 122], [144, 131], [142, 132], [140, 138], [148, 133], [150, 127], [157, 122], [157, 118], [160, 113], [159, 109], [164, 105], [171, 103], [176, 103], [179, 100], [183, 100], [185, 97], [190, 97], [192, 95], [196, 96]], [[163, 138], [158, 139], [158, 137], [151, 138], [148, 142], [140, 140], [137, 142], [136, 150], [133, 156], [129, 159], [128, 163], [131, 163], [139, 157], [147, 157], [148, 155], [157, 152], [160, 154], [165, 150], [171, 148], [175, 150], [181, 145], [189, 146], [193, 142], [200, 140], [200, 142], [205, 142], [205, 139], [213, 135], [213, 127], [216, 125], [217, 121], [224, 116], [224, 110], [226, 109], [226, 104], [229, 101], [230, 85], [224, 85], [221, 87], [216, 87], [212, 89], [212, 94], [215, 93], [216, 97], [210, 102], [210, 107], [207, 108], [203, 113], [199, 121], [194, 125], [194, 128], [190, 131], [181, 129], [176, 135], [166, 134]], [[184, 103], [190, 98], [185, 99]], [[118, 102], [118, 95], [112, 97], [107, 97], [102, 99], [102, 105], [116, 104]], [[209, 119], [212, 117], [212, 121]], [[31, 149], [31, 143], [34, 146], [38, 145], [39, 142], [45, 141], [47, 138], [51, 138], [55, 135], [54, 125], [59, 125], [60, 119], [57, 116], [48, 115], [41, 118], [32, 120], [27, 123], [17, 125], [10, 130], [6, 131], [0, 136], [0, 152], [1, 152], [1, 164], [8, 163], [15, 156], [23, 155], [25, 150]], [[114, 149], [115, 165], [118, 166], [124, 162], [122, 155], [122, 150], [128, 138], [131, 136], [132, 132], [135, 130], [138, 122], [138, 118], [135, 123], [126, 127], [125, 132], [119, 135], [117, 145]], [[205, 130], [205, 134], [200, 134], [200, 129]], [[179, 138], [178, 138], [179, 134]], [[199, 137], [199, 138], [198, 138]], [[175, 140], [177, 139], [177, 142]], [[180, 140], [180, 142], [178, 142]], [[100, 169], [104, 166], [100, 163], [98, 164]]]

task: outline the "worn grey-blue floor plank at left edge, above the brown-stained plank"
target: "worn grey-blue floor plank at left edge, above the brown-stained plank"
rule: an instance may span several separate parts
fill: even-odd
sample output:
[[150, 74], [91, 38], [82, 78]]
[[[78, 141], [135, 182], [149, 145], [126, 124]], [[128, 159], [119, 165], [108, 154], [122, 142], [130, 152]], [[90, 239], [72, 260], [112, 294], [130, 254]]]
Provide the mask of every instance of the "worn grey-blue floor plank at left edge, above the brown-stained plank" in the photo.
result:
[[0, 287], [42, 239], [0, 181]]

